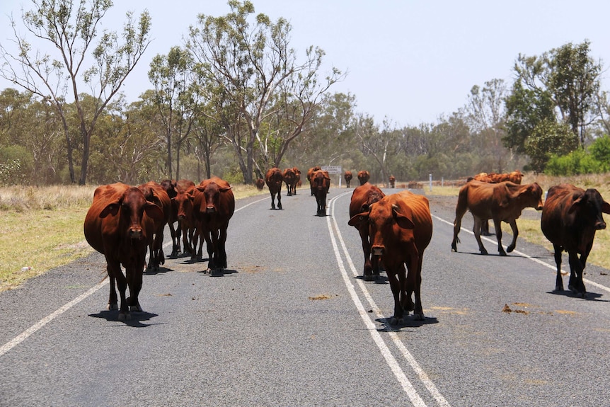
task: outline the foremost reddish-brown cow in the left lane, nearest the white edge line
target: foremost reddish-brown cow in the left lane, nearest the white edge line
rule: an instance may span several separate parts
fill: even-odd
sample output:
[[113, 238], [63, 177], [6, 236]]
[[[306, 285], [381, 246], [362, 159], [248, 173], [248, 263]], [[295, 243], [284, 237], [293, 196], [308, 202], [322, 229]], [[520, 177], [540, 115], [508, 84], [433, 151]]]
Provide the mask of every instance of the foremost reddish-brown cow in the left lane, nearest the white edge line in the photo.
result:
[[[142, 289], [146, 248], [153, 238], [154, 221], [164, 218], [163, 210], [147, 201], [136, 187], [114, 183], [100, 186], [93, 193], [84, 222], [85, 239], [106, 258], [110, 277], [108, 309], [118, 308], [115, 282], [118, 285], [120, 320], [128, 319], [130, 310], [142, 311], [138, 294]], [[130, 297], [125, 298], [128, 286]]]

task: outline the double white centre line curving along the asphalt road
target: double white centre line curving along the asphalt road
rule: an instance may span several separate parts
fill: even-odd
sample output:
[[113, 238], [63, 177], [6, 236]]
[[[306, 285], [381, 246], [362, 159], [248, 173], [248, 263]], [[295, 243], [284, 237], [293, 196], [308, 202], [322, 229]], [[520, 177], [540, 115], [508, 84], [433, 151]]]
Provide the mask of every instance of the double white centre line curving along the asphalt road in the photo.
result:
[[[373, 321], [371, 320], [371, 318], [368, 315], [369, 313], [364, 310], [364, 306], [362, 305], [362, 302], [360, 301], [358, 294], [355, 292], [354, 285], [352, 282], [352, 277], [349, 277], [347, 275], [347, 271], [345, 270], [345, 267], [343, 265], [343, 259], [341, 258], [341, 254], [338, 249], [337, 242], [335, 240], [335, 233], [337, 234], [337, 239], [341, 243], [341, 246], [343, 248], [343, 253], [347, 260], [347, 263], [350, 266], [350, 270], [352, 270], [352, 275], [354, 275], [354, 277], [357, 277], [357, 275], [358, 275], [357, 270], [355, 268], [354, 263], [352, 262], [351, 256], [347, 252], [347, 247], [345, 246], [345, 241], [343, 241], [343, 236], [340, 233], [340, 230], [338, 228], [338, 225], [337, 225], [337, 222], [335, 221], [335, 216], [334, 216], [335, 215], [335, 205], [334, 205], [335, 201], [338, 200], [338, 198], [347, 195], [348, 193], [351, 193], [351, 191], [348, 191], [341, 195], [333, 197], [333, 199], [330, 200], [330, 202], [329, 202], [330, 217], [327, 217], [328, 231], [330, 232], [330, 240], [331, 240], [331, 243], [333, 243], [335, 257], [337, 258], [337, 263], [339, 265], [339, 269], [340, 269], [341, 275], [343, 277], [343, 281], [345, 282], [345, 286], [347, 287], [348, 292], [350, 292], [350, 296], [352, 297], [352, 302], [354, 302], [360, 316], [362, 317], [362, 320], [364, 321], [365, 325], [369, 329], [369, 333], [371, 333], [371, 336], [373, 337], [374, 342], [376, 343], [377, 347], [381, 351], [381, 355], [383, 355], [384, 358], [386, 359], [386, 362], [388, 363], [389, 367], [391, 368], [393, 374], [396, 376], [396, 379], [398, 379], [398, 382], [403, 386], [405, 393], [408, 395], [409, 399], [415, 406], [425, 406], [426, 405], [425, 402], [421, 399], [418, 392], [413, 388], [413, 384], [411, 384], [411, 382], [409, 381], [409, 379], [406, 377], [405, 373], [401, 369], [400, 365], [398, 365], [396, 358], [393, 357], [393, 355], [392, 355], [391, 351], [389, 350], [388, 346], [386, 345], [384, 339], [381, 338], [379, 331], [377, 331], [375, 324], [373, 323]], [[332, 219], [332, 221], [330, 219]], [[335, 230], [334, 233], [333, 233], [333, 224], [331, 224], [331, 222], [334, 224], [334, 230]], [[379, 306], [376, 306], [371, 294], [367, 290], [367, 287], [364, 285], [364, 282], [362, 280], [356, 280], [356, 281], [357, 281], [357, 284], [359, 285], [359, 288], [360, 288], [362, 294], [367, 299], [367, 302], [369, 302], [369, 305], [372, 307], [372, 309], [374, 309], [376, 317], [378, 319], [385, 319], [385, 316], [383, 314], [381, 314], [381, 312], [379, 312]], [[414, 372], [418, 375], [418, 378], [420, 379], [420, 381], [425, 385], [426, 389], [428, 391], [430, 391], [430, 394], [432, 394], [432, 396], [435, 398], [438, 405], [443, 406], [443, 407], [449, 407], [449, 403], [447, 402], [447, 400], [444, 399], [442, 394], [440, 394], [440, 392], [436, 388], [435, 384], [432, 383], [432, 380], [430, 380], [430, 378], [427, 377], [427, 374], [425, 374], [422, 367], [420, 367], [418, 362], [415, 360], [415, 357], [413, 357], [413, 355], [411, 355], [411, 353], [402, 343], [401, 339], [398, 337], [398, 334], [396, 332], [389, 332], [389, 336], [393, 340], [393, 343], [396, 345], [398, 350], [400, 350], [403, 357], [405, 357], [405, 360], [407, 360], [409, 365], [413, 368]]]

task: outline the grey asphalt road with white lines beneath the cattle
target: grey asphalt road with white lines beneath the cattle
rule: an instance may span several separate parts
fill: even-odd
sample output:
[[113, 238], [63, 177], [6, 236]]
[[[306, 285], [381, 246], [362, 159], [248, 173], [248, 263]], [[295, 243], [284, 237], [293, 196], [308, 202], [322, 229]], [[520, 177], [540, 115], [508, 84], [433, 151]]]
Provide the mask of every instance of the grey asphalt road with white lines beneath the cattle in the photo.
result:
[[360, 278], [351, 191], [330, 190], [327, 217], [302, 188], [283, 210], [238, 200], [229, 268], [166, 260], [131, 321], [105, 311], [97, 253], [0, 293], [0, 406], [608, 405], [607, 270], [587, 265], [581, 299], [552, 291], [552, 253], [523, 239], [480, 256], [463, 230], [452, 253], [455, 198], [430, 197], [426, 318], [389, 327], [385, 275]]

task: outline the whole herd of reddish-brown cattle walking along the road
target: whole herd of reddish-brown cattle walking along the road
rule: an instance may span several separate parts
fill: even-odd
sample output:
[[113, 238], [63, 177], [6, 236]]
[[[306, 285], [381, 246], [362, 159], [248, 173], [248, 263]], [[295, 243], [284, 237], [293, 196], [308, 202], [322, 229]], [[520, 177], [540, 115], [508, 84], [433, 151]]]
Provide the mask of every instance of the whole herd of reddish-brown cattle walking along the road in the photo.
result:
[[[352, 173], [344, 174], [347, 188]], [[605, 229], [602, 212], [610, 214], [610, 204], [595, 189], [582, 190], [574, 185], [556, 185], [548, 190], [543, 204], [542, 188], [537, 183], [521, 184], [522, 173], [481, 173], [469, 178], [459, 191], [454, 220], [451, 250], [457, 251], [461, 219], [466, 211], [474, 218], [473, 232], [480, 253], [488, 254], [480, 239], [481, 231], [491, 219], [495, 226], [497, 250], [502, 247], [501, 222], [510, 224], [512, 242], [507, 252], [514, 250], [519, 231], [516, 219], [526, 207], [542, 211], [541, 229], [553, 243], [557, 265], [556, 290], [563, 291], [560, 273], [561, 253], [568, 252], [570, 281], [568, 289], [585, 297], [582, 274], [593, 245], [595, 231]], [[369, 173], [359, 171], [360, 185], [350, 201], [350, 221], [362, 241], [364, 270], [362, 277], [371, 281], [379, 278], [383, 265], [394, 299], [394, 314], [390, 323], [401, 323], [405, 314], [413, 311], [415, 319], [424, 319], [420, 296], [422, 259], [432, 239], [432, 216], [427, 198], [403, 190], [385, 195], [369, 183]], [[326, 195], [330, 176], [319, 166], [307, 171], [311, 195], [316, 197], [316, 214], [326, 216]], [[391, 176], [390, 186], [396, 179]], [[282, 209], [282, 183], [287, 195], [296, 194], [301, 185], [298, 168], [270, 168], [265, 180], [257, 180], [259, 190], [266, 184], [271, 195], [271, 208]], [[119, 319], [129, 318], [129, 311], [142, 311], [138, 294], [142, 288], [144, 268], [159, 268], [165, 258], [162, 250], [163, 229], [167, 224], [173, 245], [171, 257], [190, 253], [191, 260], [202, 259], [206, 242], [210, 273], [226, 268], [226, 231], [234, 214], [235, 198], [231, 186], [221, 178], [212, 177], [195, 185], [190, 180], [151, 181], [138, 186], [114, 183], [98, 187], [93, 194], [84, 234], [88, 243], [105, 256], [110, 278], [108, 309], [118, 309]], [[178, 222], [176, 228], [174, 224]], [[149, 261], [146, 264], [146, 253]], [[579, 257], [580, 255], [580, 257]], [[122, 273], [121, 265], [125, 268]], [[406, 267], [405, 267], [406, 266]], [[120, 307], [116, 287], [120, 294]], [[130, 297], [126, 296], [129, 287]], [[415, 295], [413, 302], [412, 295]]]

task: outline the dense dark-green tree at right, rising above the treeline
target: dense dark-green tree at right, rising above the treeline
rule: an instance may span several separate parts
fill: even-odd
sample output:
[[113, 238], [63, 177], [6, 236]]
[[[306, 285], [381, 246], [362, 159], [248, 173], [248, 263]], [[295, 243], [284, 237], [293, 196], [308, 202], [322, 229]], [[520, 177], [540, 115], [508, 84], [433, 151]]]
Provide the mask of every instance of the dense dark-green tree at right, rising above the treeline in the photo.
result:
[[[589, 41], [568, 43], [540, 57], [519, 55], [514, 71], [517, 79], [506, 98], [505, 145], [540, 157], [540, 148], [553, 144], [530, 138], [539, 137], [543, 129], [556, 129], [560, 138], [565, 139], [563, 125], [567, 125], [580, 146], [585, 147], [587, 126], [599, 114], [596, 101], [602, 74], [601, 62], [595, 62], [589, 55]], [[537, 146], [536, 151], [527, 146]], [[538, 160], [536, 166], [540, 165]]]

